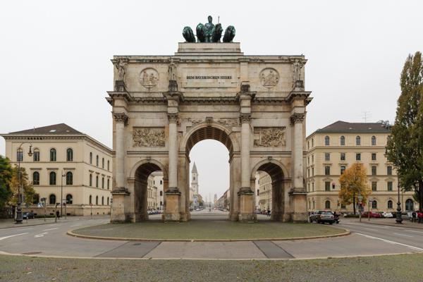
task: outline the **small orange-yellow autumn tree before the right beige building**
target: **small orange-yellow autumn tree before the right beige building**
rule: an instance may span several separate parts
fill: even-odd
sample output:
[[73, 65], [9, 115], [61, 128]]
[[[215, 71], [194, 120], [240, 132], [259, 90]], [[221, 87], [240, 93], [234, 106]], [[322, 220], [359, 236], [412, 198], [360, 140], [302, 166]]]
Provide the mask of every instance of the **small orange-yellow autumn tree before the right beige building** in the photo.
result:
[[367, 202], [367, 197], [372, 193], [367, 185], [367, 172], [362, 164], [355, 163], [349, 168], [345, 169], [339, 178], [341, 183], [341, 190], [339, 191], [339, 198], [341, 204], [353, 204], [355, 214], [355, 203], [358, 201], [358, 195], [362, 195], [362, 202]]

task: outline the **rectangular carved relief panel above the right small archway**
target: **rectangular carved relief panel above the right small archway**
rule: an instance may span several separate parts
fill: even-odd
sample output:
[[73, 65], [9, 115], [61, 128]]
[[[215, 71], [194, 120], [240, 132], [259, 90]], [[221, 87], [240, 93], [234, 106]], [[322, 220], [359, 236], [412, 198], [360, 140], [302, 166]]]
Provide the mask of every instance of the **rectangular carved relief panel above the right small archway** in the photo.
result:
[[274, 128], [254, 128], [255, 147], [283, 147], [286, 145], [285, 126]]

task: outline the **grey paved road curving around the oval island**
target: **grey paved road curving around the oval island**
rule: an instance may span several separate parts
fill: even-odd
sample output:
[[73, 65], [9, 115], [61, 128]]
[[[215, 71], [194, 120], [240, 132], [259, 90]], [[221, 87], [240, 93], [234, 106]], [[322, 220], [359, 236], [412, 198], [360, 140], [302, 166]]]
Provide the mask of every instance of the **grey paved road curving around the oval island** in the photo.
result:
[[[205, 212], [208, 217], [226, 214]], [[159, 216], [153, 216], [159, 218]], [[265, 216], [259, 216], [265, 220]], [[100, 219], [68, 219], [42, 226], [0, 230], [0, 251], [13, 254], [64, 257], [192, 258], [192, 259], [291, 259], [383, 255], [423, 252], [423, 231], [393, 226], [343, 221], [336, 225], [353, 231], [351, 235], [315, 240], [246, 242], [142, 242], [74, 238], [66, 231], [108, 222]]]

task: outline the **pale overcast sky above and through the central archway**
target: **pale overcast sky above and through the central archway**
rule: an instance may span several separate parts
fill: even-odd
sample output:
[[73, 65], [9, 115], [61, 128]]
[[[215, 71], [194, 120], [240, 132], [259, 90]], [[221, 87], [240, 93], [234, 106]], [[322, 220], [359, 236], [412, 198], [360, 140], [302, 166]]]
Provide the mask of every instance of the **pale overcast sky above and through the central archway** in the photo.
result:
[[[183, 27], [209, 14], [235, 26], [245, 55], [305, 55], [307, 134], [364, 112], [393, 121], [403, 63], [423, 51], [419, 0], [1, 1], [0, 11], [0, 133], [67, 123], [109, 147], [112, 56], [171, 55]], [[206, 140], [190, 158], [200, 193], [220, 196], [226, 147]]]

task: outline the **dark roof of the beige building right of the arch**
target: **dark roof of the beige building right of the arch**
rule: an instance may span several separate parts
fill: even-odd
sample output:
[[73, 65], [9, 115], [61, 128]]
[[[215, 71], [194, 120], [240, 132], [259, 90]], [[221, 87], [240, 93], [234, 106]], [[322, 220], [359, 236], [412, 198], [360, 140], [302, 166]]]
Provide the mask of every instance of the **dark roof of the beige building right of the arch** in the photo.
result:
[[383, 123], [348, 123], [336, 121], [324, 128], [316, 130], [316, 133], [391, 133]]

